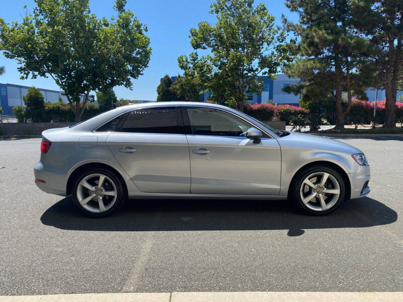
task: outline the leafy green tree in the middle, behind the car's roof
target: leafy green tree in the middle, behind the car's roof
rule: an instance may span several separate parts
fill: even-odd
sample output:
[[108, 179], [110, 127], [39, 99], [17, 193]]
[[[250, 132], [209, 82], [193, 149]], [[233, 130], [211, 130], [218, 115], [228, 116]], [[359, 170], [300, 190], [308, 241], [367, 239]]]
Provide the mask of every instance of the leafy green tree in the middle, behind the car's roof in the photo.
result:
[[203, 90], [213, 93], [212, 100], [243, 110], [246, 94], [262, 91], [257, 75], [275, 79], [279, 67], [290, 59], [286, 34], [275, 26], [275, 17], [265, 6], [254, 7], [253, 0], [216, 0], [210, 8], [217, 23], [200, 22], [189, 37], [193, 49], [208, 49], [211, 55], [199, 59], [193, 52], [179, 59], [196, 63], [193, 69]]

